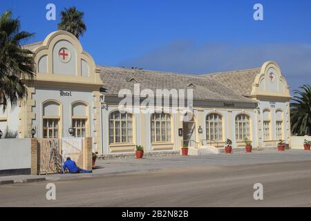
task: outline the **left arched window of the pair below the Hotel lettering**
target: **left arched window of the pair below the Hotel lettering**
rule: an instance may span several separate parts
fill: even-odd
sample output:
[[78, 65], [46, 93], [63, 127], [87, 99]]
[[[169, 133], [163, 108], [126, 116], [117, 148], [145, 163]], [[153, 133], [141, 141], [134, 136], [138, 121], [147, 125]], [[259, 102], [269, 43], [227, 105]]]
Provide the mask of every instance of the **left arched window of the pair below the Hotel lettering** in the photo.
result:
[[54, 101], [43, 104], [43, 137], [60, 137], [61, 105]]

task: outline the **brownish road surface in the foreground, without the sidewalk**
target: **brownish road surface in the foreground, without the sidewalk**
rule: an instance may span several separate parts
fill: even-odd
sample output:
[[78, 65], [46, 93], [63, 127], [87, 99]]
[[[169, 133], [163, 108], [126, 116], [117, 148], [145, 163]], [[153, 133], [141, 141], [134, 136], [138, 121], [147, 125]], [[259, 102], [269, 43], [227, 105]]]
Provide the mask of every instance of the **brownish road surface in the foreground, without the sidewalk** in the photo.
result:
[[[253, 185], [263, 184], [263, 200]], [[0, 186], [0, 206], [311, 206], [311, 162], [189, 166]]]

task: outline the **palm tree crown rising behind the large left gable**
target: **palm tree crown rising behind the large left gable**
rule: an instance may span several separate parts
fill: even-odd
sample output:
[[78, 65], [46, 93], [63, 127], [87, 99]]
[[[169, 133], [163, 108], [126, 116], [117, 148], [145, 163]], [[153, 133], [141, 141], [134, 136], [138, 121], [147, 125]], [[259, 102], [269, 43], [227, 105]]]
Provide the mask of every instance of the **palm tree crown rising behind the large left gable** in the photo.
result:
[[57, 24], [59, 30], [66, 30], [75, 35], [77, 39], [86, 31], [86, 25], [83, 21], [84, 12], [78, 11], [75, 6], [65, 8], [61, 12], [62, 21]]

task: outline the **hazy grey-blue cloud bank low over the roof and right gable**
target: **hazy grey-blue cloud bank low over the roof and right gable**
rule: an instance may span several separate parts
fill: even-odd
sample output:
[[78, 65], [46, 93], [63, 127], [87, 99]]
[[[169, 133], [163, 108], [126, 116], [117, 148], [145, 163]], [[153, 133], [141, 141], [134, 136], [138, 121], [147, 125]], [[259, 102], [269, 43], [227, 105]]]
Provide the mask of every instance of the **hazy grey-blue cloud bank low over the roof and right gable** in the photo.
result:
[[202, 44], [174, 41], [120, 66], [172, 71], [212, 73], [255, 68], [265, 61], [276, 61], [292, 88], [311, 84], [311, 45], [308, 44]]

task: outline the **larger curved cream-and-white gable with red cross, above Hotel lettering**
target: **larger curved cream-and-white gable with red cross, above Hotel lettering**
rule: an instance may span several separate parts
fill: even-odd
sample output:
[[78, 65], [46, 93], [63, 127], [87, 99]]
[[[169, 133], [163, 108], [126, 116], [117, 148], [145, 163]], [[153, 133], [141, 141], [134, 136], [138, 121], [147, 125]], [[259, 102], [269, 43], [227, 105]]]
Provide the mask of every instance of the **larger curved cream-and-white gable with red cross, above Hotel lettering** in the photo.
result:
[[[85, 52], [79, 40], [69, 32], [52, 32], [35, 50], [37, 79], [66, 79], [99, 81], [95, 76], [95, 62]], [[89, 78], [89, 79], [88, 79]]]

